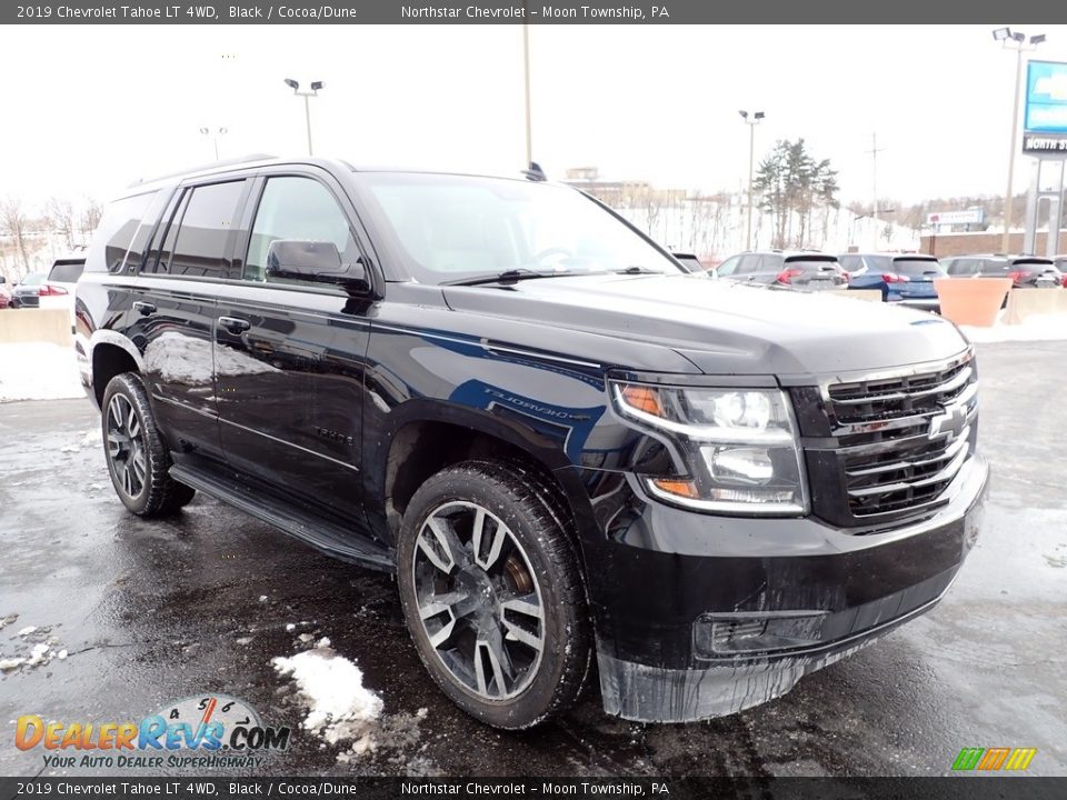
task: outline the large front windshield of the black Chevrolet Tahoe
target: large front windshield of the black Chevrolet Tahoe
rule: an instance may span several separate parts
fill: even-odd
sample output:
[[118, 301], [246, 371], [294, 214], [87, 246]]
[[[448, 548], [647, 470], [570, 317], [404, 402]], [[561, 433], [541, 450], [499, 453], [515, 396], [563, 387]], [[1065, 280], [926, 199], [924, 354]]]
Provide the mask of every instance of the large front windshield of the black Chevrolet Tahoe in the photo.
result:
[[361, 172], [358, 179], [370, 190], [379, 227], [423, 282], [508, 270], [679, 272], [656, 247], [574, 189], [446, 174]]

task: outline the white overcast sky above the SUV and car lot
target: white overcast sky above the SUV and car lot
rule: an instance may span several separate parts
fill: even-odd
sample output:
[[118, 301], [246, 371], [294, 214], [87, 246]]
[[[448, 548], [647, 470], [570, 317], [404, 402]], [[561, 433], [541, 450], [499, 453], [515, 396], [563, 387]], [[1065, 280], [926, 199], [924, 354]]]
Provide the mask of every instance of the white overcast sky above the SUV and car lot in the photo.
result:
[[[1010, 24], [1010, 20], [1005, 21]], [[1037, 52], [1067, 60], [1067, 27]], [[513, 173], [525, 152], [520, 26], [9, 27], [0, 196], [107, 197], [213, 159], [306, 152], [357, 164]], [[737, 189], [748, 129], [757, 160], [804, 137], [839, 170], [841, 198], [1000, 193], [1015, 54], [988, 26], [532, 26], [534, 153], [550, 178]], [[1020, 159], [1017, 189], [1027, 183]]]

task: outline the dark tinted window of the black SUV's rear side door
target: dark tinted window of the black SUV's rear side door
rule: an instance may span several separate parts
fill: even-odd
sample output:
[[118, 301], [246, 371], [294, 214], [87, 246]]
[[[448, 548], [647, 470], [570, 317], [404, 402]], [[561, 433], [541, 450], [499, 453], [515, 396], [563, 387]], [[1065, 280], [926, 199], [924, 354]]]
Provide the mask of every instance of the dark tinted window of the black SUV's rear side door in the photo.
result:
[[[190, 277], [222, 276], [243, 190], [242, 180], [211, 183], [192, 190], [178, 223], [178, 234], [167, 272]], [[162, 263], [160, 259], [160, 267]]]

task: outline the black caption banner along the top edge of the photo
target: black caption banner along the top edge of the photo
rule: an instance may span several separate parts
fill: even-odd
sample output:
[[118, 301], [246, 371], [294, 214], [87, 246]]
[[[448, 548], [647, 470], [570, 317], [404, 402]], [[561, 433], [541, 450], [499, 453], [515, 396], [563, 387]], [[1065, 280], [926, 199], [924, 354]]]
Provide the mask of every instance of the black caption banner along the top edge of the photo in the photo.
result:
[[[3, 3], [0, 22], [11, 24], [837, 24], [983, 22], [1003, 24], [1003, 3], [991, 0], [939, 2], [896, 0], [41, 0]], [[1016, 0], [1013, 24], [1067, 21], [1067, 3]], [[804, 36], [798, 31], [797, 36]], [[903, 34], [901, 36], [906, 36]]]

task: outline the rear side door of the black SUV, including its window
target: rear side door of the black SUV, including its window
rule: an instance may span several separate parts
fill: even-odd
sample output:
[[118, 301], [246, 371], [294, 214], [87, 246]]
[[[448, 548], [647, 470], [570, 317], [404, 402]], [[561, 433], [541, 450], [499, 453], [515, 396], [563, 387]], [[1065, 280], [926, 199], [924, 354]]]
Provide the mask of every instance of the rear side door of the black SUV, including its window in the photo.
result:
[[132, 291], [130, 336], [172, 450], [221, 458], [212, 369], [216, 292], [229, 270], [247, 178], [182, 186]]

